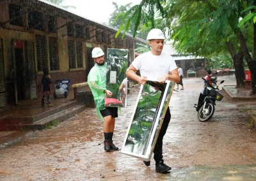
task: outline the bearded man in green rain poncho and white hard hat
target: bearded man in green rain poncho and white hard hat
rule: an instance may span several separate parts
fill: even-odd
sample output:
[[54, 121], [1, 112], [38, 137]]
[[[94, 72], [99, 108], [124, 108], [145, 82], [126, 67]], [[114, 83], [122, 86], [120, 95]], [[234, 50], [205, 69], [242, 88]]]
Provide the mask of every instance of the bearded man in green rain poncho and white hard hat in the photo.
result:
[[96, 105], [96, 113], [100, 120], [104, 121], [104, 150], [118, 150], [113, 144], [112, 138], [115, 129], [115, 118], [118, 117], [118, 108], [105, 107], [105, 96], [111, 97], [112, 92], [106, 89], [107, 63], [104, 61], [104, 52], [101, 48], [93, 48], [92, 58], [95, 66], [88, 75], [88, 85], [93, 94]]

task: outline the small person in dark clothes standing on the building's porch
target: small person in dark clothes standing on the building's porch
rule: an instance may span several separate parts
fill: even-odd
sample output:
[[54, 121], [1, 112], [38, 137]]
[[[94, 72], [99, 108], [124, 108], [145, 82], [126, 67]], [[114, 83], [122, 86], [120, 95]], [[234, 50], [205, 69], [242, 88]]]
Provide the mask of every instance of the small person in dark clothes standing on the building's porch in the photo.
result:
[[42, 77], [42, 88], [43, 88], [44, 99], [47, 98], [47, 104], [49, 107], [51, 107], [52, 106], [51, 104], [52, 80], [51, 80], [51, 76], [49, 75], [49, 71], [47, 69], [44, 69], [44, 75]]

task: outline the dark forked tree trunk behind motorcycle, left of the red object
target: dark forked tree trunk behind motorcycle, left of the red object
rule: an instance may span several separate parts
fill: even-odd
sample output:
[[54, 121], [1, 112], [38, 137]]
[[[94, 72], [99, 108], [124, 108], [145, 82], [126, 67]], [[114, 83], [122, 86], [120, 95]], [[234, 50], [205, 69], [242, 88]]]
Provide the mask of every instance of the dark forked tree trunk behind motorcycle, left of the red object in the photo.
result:
[[243, 53], [241, 47], [239, 52], [236, 54], [236, 50], [233, 43], [226, 42], [232, 60], [234, 62], [235, 76], [236, 76], [236, 88], [244, 87], [244, 66], [243, 66]]

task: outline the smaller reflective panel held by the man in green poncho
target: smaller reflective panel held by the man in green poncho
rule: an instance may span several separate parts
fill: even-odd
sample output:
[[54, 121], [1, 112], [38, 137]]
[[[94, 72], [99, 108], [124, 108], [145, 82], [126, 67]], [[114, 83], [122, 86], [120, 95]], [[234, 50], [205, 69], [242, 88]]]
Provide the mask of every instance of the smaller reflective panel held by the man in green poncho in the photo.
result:
[[108, 48], [106, 62], [108, 63], [106, 89], [112, 92], [112, 96], [105, 99], [105, 106], [124, 107], [127, 94], [120, 91], [120, 87], [125, 78], [127, 80], [125, 71], [127, 70], [128, 50]]

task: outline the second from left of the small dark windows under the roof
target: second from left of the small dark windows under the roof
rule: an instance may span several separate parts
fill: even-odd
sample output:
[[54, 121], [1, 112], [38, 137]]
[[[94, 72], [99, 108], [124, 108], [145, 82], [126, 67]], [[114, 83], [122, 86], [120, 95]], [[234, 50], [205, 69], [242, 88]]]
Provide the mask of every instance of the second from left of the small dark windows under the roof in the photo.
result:
[[29, 11], [28, 27], [31, 29], [38, 29], [38, 30], [44, 31], [43, 13], [40, 13], [38, 11]]

